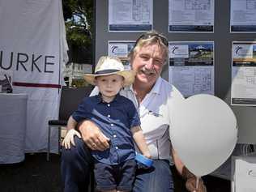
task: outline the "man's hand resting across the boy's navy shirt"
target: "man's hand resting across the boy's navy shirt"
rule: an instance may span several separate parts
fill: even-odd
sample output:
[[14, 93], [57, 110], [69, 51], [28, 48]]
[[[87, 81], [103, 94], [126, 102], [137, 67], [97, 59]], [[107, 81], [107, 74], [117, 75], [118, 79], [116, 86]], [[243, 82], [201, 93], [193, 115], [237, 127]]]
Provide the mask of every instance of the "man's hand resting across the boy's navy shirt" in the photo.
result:
[[92, 150], [105, 151], [109, 148], [109, 138], [105, 136], [95, 123], [85, 120], [78, 125], [84, 143]]

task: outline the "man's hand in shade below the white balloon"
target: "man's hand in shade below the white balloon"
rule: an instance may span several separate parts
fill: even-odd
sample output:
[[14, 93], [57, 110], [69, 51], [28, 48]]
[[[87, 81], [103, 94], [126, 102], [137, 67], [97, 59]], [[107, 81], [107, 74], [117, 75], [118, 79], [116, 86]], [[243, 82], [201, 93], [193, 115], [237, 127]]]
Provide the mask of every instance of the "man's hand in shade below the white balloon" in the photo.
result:
[[186, 179], [186, 189], [190, 192], [207, 192], [206, 186], [203, 184], [202, 178], [199, 178], [198, 188], [196, 188], [196, 177], [184, 166], [182, 169], [182, 177]]

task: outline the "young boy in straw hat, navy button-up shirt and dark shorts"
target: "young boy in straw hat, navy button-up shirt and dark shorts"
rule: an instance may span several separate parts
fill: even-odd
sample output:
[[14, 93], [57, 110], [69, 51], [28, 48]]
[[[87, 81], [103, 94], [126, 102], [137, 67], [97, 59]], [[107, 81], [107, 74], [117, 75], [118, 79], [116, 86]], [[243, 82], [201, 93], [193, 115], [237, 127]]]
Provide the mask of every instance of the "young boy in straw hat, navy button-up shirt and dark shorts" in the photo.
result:
[[84, 79], [96, 85], [100, 94], [83, 99], [79, 109], [70, 116], [62, 144], [70, 148], [70, 143], [75, 144], [74, 136], [81, 137], [75, 130], [78, 122], [88, 119], [96, 123], [110, 139], [109, 149], [92, 150], [97, 190], [131, 191], [136, 169], [133, 139], [143, 156], [151, 158], [133, 102], [119, 95], [122, 87], [133, 83], [134, 72], [124, 70], [118, 58], [101, 57], [95, 74], [85, 75]]

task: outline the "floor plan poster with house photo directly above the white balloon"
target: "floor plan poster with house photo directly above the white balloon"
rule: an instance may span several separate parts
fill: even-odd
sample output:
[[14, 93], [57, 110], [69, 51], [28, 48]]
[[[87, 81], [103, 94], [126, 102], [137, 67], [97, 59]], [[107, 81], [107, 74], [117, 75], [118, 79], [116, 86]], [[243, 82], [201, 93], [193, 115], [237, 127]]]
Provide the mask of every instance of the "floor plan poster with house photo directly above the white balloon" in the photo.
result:
[[169, 42], [169, 82], [185, 97], [214, 95], [214, 42]]

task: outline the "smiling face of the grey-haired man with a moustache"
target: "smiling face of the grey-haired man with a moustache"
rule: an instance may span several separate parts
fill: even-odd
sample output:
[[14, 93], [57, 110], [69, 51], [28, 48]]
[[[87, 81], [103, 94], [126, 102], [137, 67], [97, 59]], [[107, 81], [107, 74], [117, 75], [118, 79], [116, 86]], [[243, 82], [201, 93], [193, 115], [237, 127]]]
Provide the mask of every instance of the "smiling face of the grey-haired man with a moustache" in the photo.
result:
[[135, 83], [142, 83], [151, 88], [163, 69], [164, 52], [157, 44], [145, 45], [135, 53], [131, 64], [137, 72]]

